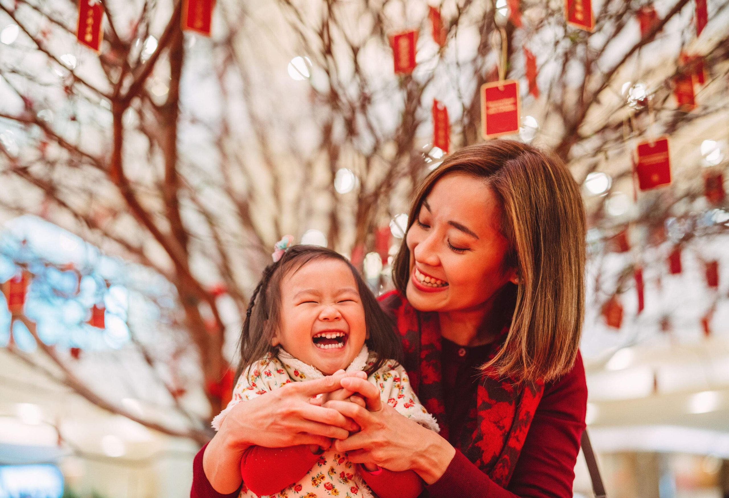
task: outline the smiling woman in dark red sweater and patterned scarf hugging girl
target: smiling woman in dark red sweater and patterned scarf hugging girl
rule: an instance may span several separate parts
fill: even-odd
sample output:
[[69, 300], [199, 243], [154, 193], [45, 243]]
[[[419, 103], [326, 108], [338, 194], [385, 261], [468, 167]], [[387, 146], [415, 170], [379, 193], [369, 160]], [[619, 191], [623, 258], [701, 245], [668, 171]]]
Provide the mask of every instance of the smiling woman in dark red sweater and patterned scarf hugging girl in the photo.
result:
[[[587, 402], [584, 241], [580, 192], [556, 157], [505, 140], [448, 156], [416, 193], [397, 290], [382, 300], [440, 435], [361, 378], [296, 383], [236, 405], [195, 458], [192, 496], [235, 496], [250, 445], [333, 438], [352, 462], [414, 470], [431, 497], [572, 497]], [[340, 386], [367, 409], [309, 402]]]

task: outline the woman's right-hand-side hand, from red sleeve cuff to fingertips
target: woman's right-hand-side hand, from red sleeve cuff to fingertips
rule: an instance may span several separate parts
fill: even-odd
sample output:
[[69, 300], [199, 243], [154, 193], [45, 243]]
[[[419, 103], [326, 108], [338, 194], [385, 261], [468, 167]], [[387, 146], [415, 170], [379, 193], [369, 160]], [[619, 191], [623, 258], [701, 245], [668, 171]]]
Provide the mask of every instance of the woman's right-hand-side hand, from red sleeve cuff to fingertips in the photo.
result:
[[375, 464], [393, 471], [412, 469], [432, 484], [448, 468], [456, 450], [430, 429], [383, 405], [380, 392], [360, 378], [343, 378], [344, 389], [364, 398], [367, 408], [348, 401], [331, 400], [325, 408], [335, 408], [361, 428], [345, 440], [335, 440], [338, 451], [346, 451], [351, 462]]

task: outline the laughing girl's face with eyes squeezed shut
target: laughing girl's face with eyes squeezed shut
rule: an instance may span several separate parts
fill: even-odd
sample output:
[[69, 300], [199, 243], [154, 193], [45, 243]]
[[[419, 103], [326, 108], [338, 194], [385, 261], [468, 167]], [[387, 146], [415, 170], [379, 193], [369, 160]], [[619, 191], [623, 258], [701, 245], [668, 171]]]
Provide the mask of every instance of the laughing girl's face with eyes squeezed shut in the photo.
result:
[[331, 375], [348, 367], [366, 335], [362, 299], [345, 262], [313, 260], [281, 279], [281, 327], [273, 346]]

